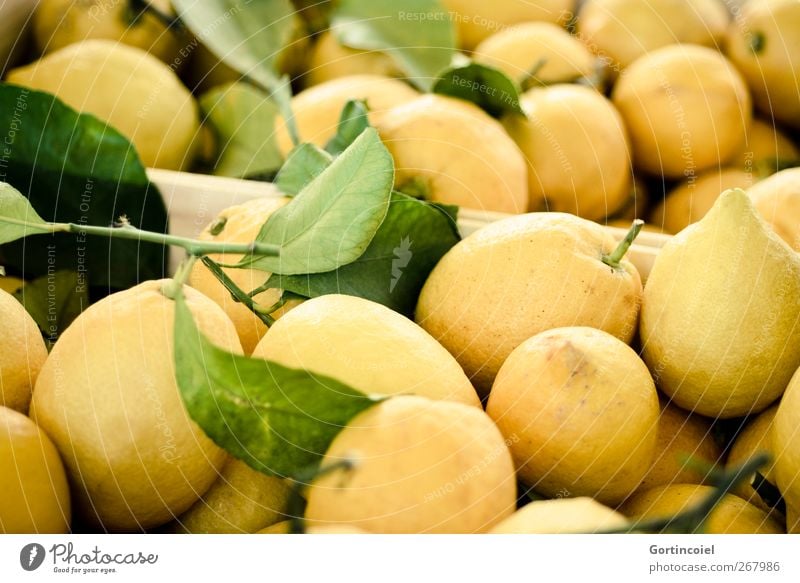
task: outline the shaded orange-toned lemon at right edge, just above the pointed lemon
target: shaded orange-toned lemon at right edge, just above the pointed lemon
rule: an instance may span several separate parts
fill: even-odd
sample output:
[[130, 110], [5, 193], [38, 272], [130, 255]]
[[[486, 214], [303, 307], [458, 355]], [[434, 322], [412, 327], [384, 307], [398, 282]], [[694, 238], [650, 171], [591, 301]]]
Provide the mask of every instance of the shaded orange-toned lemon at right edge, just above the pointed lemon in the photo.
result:
[[797, 166], [800, 150], [784, 132], [775, 125], [755, 118], [747, 132], [747, 143], [731, 165], [763, 178], [781, 168]]

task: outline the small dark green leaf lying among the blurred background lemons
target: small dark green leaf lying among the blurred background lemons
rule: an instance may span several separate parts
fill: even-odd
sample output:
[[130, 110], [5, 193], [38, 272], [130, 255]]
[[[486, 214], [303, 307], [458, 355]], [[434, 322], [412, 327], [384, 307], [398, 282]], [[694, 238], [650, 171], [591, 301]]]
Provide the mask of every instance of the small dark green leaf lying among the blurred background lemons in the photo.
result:
[[486, 65], [470, 63], [445, 71], [436, 80], [433, 92], [471, 101], [494, 117], [505, 113], [525, 115], [514, 82]]

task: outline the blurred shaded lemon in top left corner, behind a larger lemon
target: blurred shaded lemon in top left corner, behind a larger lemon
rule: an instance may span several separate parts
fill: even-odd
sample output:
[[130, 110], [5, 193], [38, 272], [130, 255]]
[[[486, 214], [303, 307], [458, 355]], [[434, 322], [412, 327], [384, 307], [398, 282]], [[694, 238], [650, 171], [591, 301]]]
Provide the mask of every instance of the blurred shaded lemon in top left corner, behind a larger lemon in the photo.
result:
[[[169, 0], [150, 3], [164, 14], [174, 14]], [[178, 29], [168, 29], [147, 12], [135, 16], [125, 0], [41, 0], [33, 13], [33, 39], [40, 53], [108, 39], [143, 49], [167, 64], [175, 62], [184, 40]]]

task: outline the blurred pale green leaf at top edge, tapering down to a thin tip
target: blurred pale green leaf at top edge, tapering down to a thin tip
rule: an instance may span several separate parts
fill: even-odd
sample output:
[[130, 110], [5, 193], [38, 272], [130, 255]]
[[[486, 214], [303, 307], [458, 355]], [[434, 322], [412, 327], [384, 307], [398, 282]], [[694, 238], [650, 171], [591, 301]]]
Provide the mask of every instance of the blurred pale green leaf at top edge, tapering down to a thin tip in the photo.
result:
[[297, 143], [289, 78], [280, 77], [275, 66], [294, 35], [292, 3], [289, 0], [172, 0], [172, 5], [181, 22], [218, 59], [270, 93], [292, 140]]

